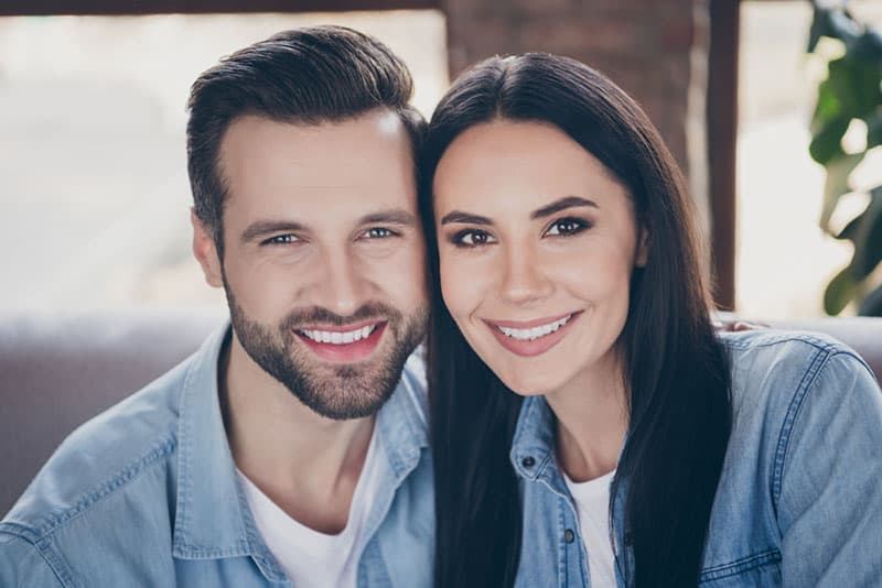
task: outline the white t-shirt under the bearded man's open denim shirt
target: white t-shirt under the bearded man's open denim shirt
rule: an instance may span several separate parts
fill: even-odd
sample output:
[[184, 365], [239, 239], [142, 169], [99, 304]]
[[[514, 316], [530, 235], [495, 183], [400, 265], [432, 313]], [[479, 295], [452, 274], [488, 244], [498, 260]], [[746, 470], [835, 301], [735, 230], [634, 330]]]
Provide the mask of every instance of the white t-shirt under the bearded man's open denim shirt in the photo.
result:
[[[346, 527], [336, 535], [320, 533], [300, 524], [239, 471], [248, 507], [270, 553], [294, 588], [340, 586], [355, 588], [358, 560], [369, 538], [365, 522], [377, 493], [376, 428], [349, 505]], [[237, 470], [238, 471], [238, 470]]]

